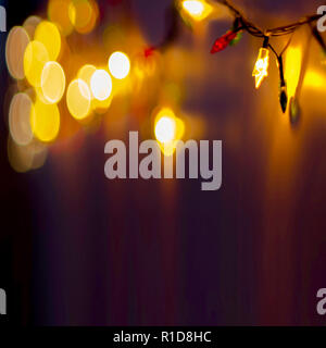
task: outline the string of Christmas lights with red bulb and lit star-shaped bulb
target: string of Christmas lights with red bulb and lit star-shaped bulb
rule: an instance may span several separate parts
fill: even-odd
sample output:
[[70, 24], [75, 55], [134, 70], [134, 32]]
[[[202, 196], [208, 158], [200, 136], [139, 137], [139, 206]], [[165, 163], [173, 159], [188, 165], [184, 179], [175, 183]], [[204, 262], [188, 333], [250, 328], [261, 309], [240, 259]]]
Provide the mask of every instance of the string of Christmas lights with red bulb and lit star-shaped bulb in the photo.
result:
[[[242, 37], [242, 33], [246, 32], [249, 35], [263, 39], [262, 48], [259, 51], [258, 59], [253, 69], [252, 76], [255, 78], [255, 88], [260, 88], [264, 78], [268, 76], [268, 66], [269, 66], [269, 52], [272, 51], [275, 54], [276, 63], [279, 70], [279, 102], [283, 112], [285, 113], [288, 104], [287, 97], [287, 84], [285, 80], [284, 73], [284, 53], [287, 48], [290, 46], [292, 36], [298, 28], [303, 25], [309, 25], [311, 27], [312, 35], [316, 39], [316, 41], [322, 47], [323, 51], [326, 52], [326, 44], [318, 33], [315, 23], [323, 16], [321, 14], [315, 15], [306, 15], [301, 20], [290, 23], [284, 26], [262, 29], [254, 23], [250, 22], [240, 10], [238, 10], [230, 1], [228, 0], [214, 0], [218, 5], [226, 7], [230, 14], [234, 16], [234, 23], [229, 30], [227, 30], [223, 36], [218, 37], [212, 49], [211, 53], [217, 53], [225, 50], [228, 46], [236, 45]], [[177, 11], [175, 11], [177, 10]], [[187, 25], [189, 21], [187, 17], [183, 15], [183, 12], [186, 12], [190, 15], [195, 21], [203, 21], [205, 20], [211, 12], [213, 11], [213, 7], [205, 0], [178, 0], [176, 4], [168, 9], [168, 18], [171, 23], [171, 27], [168, 29], [168, 34], [166, 35], [163, 42], [152, 49], [161, 50], [166, 48], [168, 45], [172, 45], [176, 39], [177, 34], [179, 32], [178, 22], [176, 20], [177, 14], [181, 14], [184, 23]], [[287, 45], [281, 50], [280, 53], [277, 53], [274, 46], [271, 44], [271, 38], [280, 37], [280, 36], [290, 36]]]

